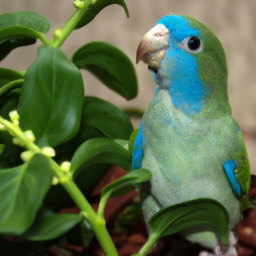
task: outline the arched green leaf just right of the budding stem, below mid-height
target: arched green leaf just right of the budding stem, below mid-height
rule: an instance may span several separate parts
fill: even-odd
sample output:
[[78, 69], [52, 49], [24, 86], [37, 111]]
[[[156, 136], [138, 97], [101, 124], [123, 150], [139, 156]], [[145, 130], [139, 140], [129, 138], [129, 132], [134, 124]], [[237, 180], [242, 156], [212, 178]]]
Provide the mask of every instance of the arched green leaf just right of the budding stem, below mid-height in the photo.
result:
[[130, 168], [131, 154], [118, 143], [107, 138], [91, 139], [84, 142], [71, 160], [72, 172], [93, 164], [116, 164], [125, 170]]

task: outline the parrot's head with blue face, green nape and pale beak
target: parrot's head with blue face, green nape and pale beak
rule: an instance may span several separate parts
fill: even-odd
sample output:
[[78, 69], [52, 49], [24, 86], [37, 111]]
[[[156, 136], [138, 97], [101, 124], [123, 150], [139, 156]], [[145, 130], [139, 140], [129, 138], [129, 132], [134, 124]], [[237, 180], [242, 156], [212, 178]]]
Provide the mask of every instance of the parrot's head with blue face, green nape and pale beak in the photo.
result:
[[229, 109], [225, 52], [215, 34], [196, 19], [161, 18], [142, 38], [136, 62], [140, 60], [185, 114], [197, 114], [209, 102]]

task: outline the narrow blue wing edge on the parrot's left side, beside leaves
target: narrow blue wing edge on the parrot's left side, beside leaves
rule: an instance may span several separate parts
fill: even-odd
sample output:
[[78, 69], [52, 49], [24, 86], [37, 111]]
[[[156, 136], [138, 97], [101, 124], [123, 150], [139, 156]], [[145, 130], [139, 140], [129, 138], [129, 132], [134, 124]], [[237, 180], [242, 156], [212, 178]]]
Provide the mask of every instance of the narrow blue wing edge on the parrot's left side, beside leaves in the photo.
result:
[[138, 135], [136, 137], [136, 140], [134, 142], [134, 146], [132, 149], [132, 169], [133, 170], [141, 168], [141, 162], [144, 155], [142, 126], [143, 124], [141, 123]]

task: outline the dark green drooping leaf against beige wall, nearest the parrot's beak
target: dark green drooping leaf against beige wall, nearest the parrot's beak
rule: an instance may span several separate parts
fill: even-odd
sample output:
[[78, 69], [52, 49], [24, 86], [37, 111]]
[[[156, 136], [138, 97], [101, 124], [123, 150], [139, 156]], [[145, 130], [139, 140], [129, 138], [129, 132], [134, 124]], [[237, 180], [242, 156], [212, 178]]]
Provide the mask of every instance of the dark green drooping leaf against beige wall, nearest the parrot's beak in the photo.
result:
[[114, 45], [106, 42], [88, 43], [75, 52], [72, 61], [124, 98], [130, 100], [136, 97], [138, 87], [133, 64]]

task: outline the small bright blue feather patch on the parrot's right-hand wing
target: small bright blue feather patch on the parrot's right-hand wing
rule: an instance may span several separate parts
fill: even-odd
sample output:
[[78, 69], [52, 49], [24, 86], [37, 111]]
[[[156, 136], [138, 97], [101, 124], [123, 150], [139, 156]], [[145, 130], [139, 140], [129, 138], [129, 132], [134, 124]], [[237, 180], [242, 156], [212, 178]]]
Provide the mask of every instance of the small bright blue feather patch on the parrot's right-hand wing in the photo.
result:
[[241, 191], [241, 187], [240, 184], [238, 183], [237, 179], [236, 179], [236, 168], [237, 168], [237, 164], [234, 160], [226, 160], [223, 163], [224, 166], [224, 170], [225, 173], [228, 177], [229, 183], [236, 195], [237, 198], [241, 198], [242, 196], [242, 191]]

